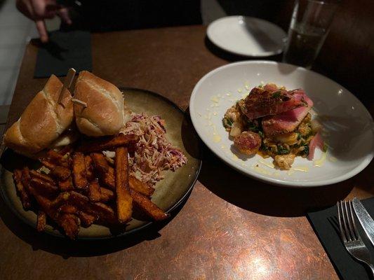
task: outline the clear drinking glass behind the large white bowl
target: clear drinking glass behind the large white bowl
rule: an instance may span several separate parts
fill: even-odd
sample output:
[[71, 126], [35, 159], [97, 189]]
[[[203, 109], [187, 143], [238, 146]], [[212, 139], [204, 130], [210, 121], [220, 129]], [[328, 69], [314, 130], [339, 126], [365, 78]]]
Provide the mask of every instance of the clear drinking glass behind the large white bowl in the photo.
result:
[[295, 0], [283, 62], [312, 67], [328, 34], [339, 1]]

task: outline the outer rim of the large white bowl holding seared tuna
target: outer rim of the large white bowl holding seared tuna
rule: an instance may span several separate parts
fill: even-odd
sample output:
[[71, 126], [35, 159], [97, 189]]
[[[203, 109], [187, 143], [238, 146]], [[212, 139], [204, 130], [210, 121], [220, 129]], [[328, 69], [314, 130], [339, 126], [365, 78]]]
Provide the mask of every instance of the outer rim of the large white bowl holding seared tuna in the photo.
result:
[[328, 185], [332, 185], [332, 184], [335, 184], [335, 183], [340, 183], [342, 181], [345, 181], [347, 179], [352, 178], [356, 174], [359, 174], [363, 169], [365, 169], [370, 164], [371, 160], [373, 160], [373, 157], [374, 157], [374, 151], [372, 151], [372, 153], [370, 153], [357, 167], [355, 167], [350, 172], [347, 172], [344, 175], [337, 176], [337, 177], [334, 177], [332, 179], [328, 179], [328, 180], [324, 180], [324, 181], [312, 181], [312, 182], [295, 181], [295, 182], [290, 182], [290, 181], [283, 181], [281, 179], [270, 178], [269, 176], [265, 176], [265, 175], [262, 175], [262, 174], [251, 172], [250, 169], [245, 169], [245, 168], [240, 167], [240, 166], [234, 166], [234, 165], [232, 165], [231, 162], [229, 162], [229, 160], [227, 158], [221, 157], [221, 155], [219, 155], [218, 153], [215, 153], [214, 148], [213, 148], [213, 144], [210, 141], [204, 141], [205, 137], [203, 137], [203, 133], [201, 131], [201, 128], [199, 127], [199, 125], [197, 125], [197, 122], [198, 122], [197, 121], [197, 116], [194, 113], [195, 112], [194, 99], [196, 98], [196, 95], [197, 95], [196, 92], [199, 89], [199, 86], [201, 85], [201, 83], [203, 83], [204, 80], [206, 80], [206, 78], [212, 76], [214, 73], [216, 73], [218, 71], [221, 71], [222, 69], [227, 69], [227, 68], [234, 67], [236, 65], [241, 65], [241, 64], [272, 64], [274, 66], [279, 65], [279, 64], [283, 64], [283, 65], [286, 65], [286, 66], [297, 67], [297, 69], [301, 70], [301, 71], [310, 71], [310, 72], [314, 73], [316, 76], [319, 76], [320, 78], [326, 79], [330, 83], [334, 83], [335, 85], [338, 85], [343, 90], [345, 90], [345, 92], [347, 92], [347, 94], [352, 95], [352, 97], [354, 99], [356, 99], [356, 101], [359, 102], [363, 106], [364, 112], [366, 113], [368, 118], [370, 118], [373, 121], [373, 118], [371, 117], [368, 109], [366, 109], [366, 107], [362, 104], [362, 102], [356, 96], [354, 96], [354, 94], [352, 94], [352, 92], [347, 90], [345, 87], [343, 87], [339, 83], [336, 83], [334, 80], [331, 80], [330, 78], [328, 78], [326, 76], [323, 76], [320, 73], [316, 73], [315, 71], [308, 70], [308, 69], [305, 69], [305, 68], [300, 67], [300, 66], [295, 66], [293, 64], [286, 64], [286, 63], [283, 63], [283, 62], [274, 62], [274, 61], [269, 61], [269, 60], [246, 60], [246, 61], [241, 61], [241, 62], [234, 62], [234, 63], [225, 64], [223, 66], [220, 66], [220, 67], [218, 67], [216, 69], [213, 69], [212, 71], [206, 73], [206, 75], [204, 75], [199, 80], [199, 82], [196, 83], [196, 85], [194, 86], [194, 90], [192, 90], [191, 97], [189, 99], [189, 114], [191, 116], [192, 125], [194, 125], [194, 128], [195, 128], [197, 134], [199, 135], [201, 141], [203, 141], [203, 143], [206, 144], [206, 146], [208, 146], [208, 148], [218, 158], [220, 158], [220, 160], [222, 160], [227, 165], [229, 165], [229, 167], [232, 167], [232, 168], [236, 169], [236, 171], [239, 171], [246, 176], [250, 176], [253, 179], [257, 179], [257, 180], [265, 182], [265, 183], [271, 183], [272, 185], [276, 185], [276, 186], [288, 186], [288, 187], [293, 187], [293, 188], [300, 188], [300, 187], [328, 186]]

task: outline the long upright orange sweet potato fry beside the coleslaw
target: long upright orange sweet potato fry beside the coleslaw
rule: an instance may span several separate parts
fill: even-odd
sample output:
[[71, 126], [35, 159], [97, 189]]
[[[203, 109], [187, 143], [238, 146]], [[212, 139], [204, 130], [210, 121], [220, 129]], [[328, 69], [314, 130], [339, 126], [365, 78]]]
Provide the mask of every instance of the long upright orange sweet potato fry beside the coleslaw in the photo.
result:
[[127, 223], [133, 214], [133, 199], [128, 187], [128, 151], [116, 148], [116, 206], [119, 223]]

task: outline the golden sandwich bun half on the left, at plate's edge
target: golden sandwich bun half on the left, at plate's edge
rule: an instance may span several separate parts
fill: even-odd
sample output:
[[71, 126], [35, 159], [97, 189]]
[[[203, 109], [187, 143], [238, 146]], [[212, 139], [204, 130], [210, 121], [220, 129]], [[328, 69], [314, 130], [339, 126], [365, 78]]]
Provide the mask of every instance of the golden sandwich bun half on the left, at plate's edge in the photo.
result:
[[6, 131], [4, 144], [23, 155], [32, 156], [48, 148], [73, 121], [72, 95], [64, 90], [62, 105], [58, 97], [61, 81], [54, 75], [23, 111], [20, 119]]

